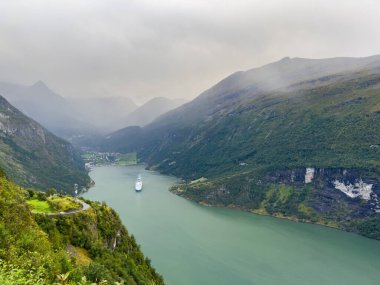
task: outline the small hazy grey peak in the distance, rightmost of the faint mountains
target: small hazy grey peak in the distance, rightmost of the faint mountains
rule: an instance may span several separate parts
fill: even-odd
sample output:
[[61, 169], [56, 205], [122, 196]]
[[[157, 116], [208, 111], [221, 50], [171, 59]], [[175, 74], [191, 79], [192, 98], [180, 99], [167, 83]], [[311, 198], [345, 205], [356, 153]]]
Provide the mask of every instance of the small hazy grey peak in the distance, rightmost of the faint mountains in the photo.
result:
[[124, 127], [145, 126], [162, 114], [183, 105], [185, 102], [183, 99], [153, 98], [124, 118]]

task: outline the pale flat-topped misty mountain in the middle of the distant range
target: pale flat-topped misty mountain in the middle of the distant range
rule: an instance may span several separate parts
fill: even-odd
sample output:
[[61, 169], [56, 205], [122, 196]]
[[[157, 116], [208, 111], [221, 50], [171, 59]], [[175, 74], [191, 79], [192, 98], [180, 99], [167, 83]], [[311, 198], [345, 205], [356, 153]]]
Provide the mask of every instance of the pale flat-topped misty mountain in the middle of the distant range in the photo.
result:
[[126, 97], [71, 99], [70, 103], [86, 122], [91, 122], [103, 133], [125, 127], [125, 117], [137, 109], [137, 105]]

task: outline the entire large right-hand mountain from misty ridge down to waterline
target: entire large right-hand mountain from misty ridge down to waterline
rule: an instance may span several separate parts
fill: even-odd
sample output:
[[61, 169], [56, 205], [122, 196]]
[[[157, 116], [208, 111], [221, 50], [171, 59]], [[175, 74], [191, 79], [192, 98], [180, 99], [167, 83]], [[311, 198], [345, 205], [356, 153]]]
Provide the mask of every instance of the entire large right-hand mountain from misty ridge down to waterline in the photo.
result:
[[99, 147], [137, 150], [184, 178], [173, 191], [199, 202], [380, 239], [379, 135], [380, 56], [284, 58], [236, 72]]

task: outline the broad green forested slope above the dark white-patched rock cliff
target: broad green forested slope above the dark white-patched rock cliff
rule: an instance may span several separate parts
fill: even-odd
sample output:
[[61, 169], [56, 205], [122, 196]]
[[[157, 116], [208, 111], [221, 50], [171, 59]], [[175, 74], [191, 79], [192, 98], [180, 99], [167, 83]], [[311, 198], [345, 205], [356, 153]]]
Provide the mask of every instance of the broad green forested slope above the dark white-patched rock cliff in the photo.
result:
[[188, 129], [180, 145], [161, 148], [159, 169], [195, 179], [263, 168], [377, 168], [379, 83], [380, 75], [368, 75], [246, 99]]

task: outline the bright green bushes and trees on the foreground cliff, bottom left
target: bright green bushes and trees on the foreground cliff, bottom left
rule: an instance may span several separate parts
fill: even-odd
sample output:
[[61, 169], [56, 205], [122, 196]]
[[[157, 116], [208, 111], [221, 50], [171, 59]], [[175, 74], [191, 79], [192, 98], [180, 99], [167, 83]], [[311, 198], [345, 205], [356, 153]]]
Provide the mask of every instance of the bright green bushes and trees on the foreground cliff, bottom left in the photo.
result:
[[[50, 200], [50, 201], [49, 201]], [[72, 198], [24, 190], [0, 177], [1, 284], [163, 284], [107, 205], [48, 216]], [[41, 213], [32, 214], [39, 209]], [[62, 209], [62, 208], [59, 208]]]

